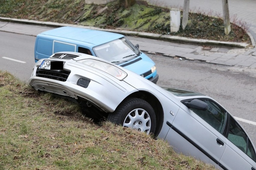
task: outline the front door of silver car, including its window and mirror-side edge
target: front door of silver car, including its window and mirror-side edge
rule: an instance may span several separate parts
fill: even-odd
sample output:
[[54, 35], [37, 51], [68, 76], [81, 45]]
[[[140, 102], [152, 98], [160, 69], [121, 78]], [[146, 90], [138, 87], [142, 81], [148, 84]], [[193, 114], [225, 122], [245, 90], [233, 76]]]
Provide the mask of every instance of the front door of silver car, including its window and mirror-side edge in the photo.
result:
[[208, 104], [205, 111], [189, 109], [181, 104], [173, 123], [167, 122], [171, 128], [165, 139], [175, 151], [217, 167], [227, 145], [227, 139], [221, 134], [225, 128], [227, 112], [212, 100], [200, 100]]

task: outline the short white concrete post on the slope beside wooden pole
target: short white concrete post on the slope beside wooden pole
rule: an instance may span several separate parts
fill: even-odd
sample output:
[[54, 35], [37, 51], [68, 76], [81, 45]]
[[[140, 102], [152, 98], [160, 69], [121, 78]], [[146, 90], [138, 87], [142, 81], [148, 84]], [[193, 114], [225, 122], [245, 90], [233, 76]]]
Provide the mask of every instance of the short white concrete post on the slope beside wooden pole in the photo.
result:
[[170, 22], [171, 22], [171, 32], [178, 32], [181, 25], [181, 11], [179, 9], [170, 10]]

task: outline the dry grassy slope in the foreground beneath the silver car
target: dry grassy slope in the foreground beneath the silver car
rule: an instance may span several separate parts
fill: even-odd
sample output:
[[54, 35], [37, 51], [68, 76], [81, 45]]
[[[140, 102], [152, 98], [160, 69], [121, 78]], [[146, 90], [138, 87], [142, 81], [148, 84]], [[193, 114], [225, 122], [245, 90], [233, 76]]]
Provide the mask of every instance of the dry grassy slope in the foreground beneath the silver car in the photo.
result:
[[214, 169], [0, 71], [0, 169]]

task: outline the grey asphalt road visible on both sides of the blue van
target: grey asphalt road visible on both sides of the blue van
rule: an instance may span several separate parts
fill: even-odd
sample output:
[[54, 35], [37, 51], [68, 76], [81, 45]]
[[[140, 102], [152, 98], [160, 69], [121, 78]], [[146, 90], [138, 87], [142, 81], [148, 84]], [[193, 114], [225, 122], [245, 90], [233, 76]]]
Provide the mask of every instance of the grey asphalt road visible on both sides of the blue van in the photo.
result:
[[[0, 69], [23, 81], [32, 73], [35, 37], [0, 31]], [[149, 40], [150, 41], [150, 40]], [[149, 55], [157, 66], [158, 85], [191, 89], [219, 101], [237, 118], [256, 144], [256, 75], [209, 63]], [[247, 122], [247, 123], [246, 123]]]

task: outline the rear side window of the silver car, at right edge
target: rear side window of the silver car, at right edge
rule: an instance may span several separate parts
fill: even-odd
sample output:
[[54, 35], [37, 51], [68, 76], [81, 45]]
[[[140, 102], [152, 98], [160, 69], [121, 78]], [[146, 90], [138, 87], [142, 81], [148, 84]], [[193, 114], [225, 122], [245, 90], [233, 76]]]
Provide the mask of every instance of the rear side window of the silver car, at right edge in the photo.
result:
[[255, 151], [242, 128], [230, 117], [227, 139], [255, 161]]

